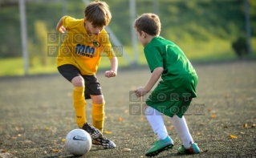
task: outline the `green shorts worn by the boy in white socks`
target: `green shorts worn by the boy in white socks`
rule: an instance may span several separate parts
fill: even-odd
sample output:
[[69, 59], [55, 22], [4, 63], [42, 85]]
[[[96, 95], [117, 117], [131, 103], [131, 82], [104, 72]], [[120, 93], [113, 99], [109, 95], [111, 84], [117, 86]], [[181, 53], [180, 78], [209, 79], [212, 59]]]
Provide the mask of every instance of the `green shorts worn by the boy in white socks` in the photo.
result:
[[177, 115], [181, 118], [188, 110], [192, 99], [197, 97], [196, 87], [197, 75], [161, 80], [146, 99], [146, 104], [165, 115]]

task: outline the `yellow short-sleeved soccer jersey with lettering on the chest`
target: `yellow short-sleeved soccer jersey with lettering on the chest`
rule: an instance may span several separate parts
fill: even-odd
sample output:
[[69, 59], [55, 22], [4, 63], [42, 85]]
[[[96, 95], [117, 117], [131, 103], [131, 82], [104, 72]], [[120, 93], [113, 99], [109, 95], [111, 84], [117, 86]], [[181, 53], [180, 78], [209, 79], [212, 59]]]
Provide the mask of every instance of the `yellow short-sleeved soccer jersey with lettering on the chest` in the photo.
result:
[[82, 75], [95, 75], [101, 56], [112, 59], [115, 54], [106, 30], [98, 35], [89, 35], [85, 30], [84, 19], [69, 16], [63, 18], [63, 26], [67, 30], [63, 43], [59, 47], [57, 67], [72, 64], [79, 68]]

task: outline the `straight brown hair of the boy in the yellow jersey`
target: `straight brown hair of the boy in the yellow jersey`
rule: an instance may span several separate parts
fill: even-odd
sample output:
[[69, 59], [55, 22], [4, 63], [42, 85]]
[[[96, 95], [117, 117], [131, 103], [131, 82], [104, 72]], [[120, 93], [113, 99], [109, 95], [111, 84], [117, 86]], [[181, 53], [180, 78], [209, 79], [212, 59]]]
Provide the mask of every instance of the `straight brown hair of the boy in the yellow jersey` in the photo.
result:
[[106, 2], [91, 2], [84, 10], [84, 16], [94, 26], [108, 26], [112, 18], [109, 6]]

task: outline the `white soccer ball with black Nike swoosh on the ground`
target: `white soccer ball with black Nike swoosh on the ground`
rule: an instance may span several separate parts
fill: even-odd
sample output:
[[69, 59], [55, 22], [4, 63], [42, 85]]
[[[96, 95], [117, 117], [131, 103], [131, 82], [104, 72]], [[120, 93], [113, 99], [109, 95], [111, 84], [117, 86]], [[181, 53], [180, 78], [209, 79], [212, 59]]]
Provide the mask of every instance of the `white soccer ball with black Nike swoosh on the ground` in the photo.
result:
[[74, 129], [66, 136], [67, 152], [74, 156], [83, 156], [91, 149], [91, 136], [83, 129]]

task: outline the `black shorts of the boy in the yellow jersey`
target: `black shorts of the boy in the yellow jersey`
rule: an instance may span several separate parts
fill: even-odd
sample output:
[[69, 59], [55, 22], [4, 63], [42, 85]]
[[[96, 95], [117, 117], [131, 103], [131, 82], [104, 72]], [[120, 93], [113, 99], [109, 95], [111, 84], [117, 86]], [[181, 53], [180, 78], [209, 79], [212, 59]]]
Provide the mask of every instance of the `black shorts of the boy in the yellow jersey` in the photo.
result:
[[84, 96], [85, 99], [91, 99], [90, 95], [102, 95], [100, 83], [96, 75], [81, 75], [77, 67], [71, 64], [65, 64], [58, 67], [58, 71], [69, 82], [76, 77], [81, 76], [84, 79]]

